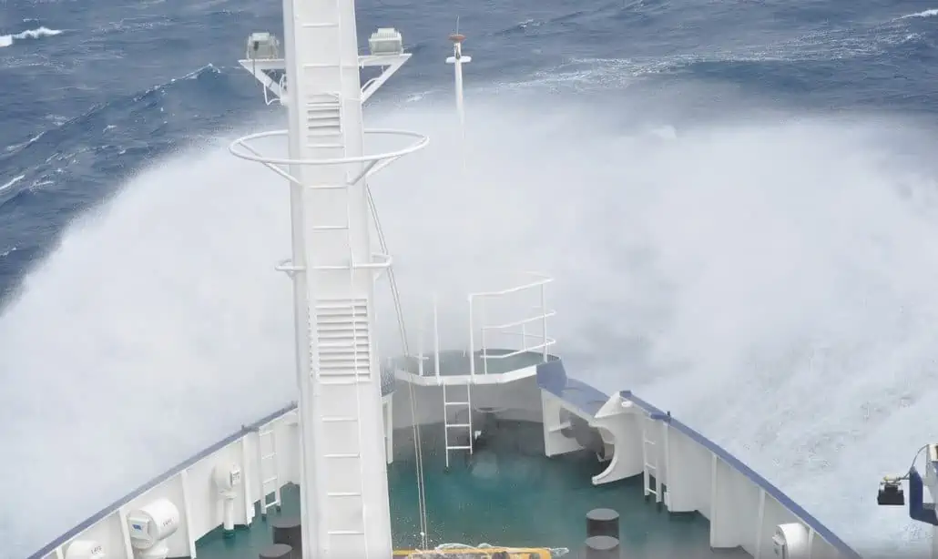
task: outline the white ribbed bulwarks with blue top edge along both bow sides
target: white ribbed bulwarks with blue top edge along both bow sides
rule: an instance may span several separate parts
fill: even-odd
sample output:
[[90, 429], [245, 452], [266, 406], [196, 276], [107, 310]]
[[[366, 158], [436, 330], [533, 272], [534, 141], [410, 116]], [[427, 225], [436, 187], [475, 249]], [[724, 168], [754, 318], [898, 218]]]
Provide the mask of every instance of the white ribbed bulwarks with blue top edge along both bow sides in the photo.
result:
[[[559, 363], [558, 366], [562, 367]], [[809, 559], [860, 559], [824, 524], [762, 476], [671, 415], [628, 391], [610, 397], [592, 386], [568, 381], [566, 372], [559, 380], [553, 377], [556, 375], [546, 374], [538, 378], [540, 388], [537, 388], [543, 402], [543, 418], [547, 421], [544, 434], [548, 456], [579, 448], [575, 439], [562, 435], [564, 426], [559, 409], [570, 409], [606, 431], [619, 433], [617, 461], [622, 461], [619, 467], [627, 470], [620, 472], [624, 476], [643, 474], [643, 438], [654, 439], [654, 447], [659, 453], [657, 461], [662, 466], [663, 485], [667, 489], [666, 509], [670, 512], [699, 512], [709, 523], [711, 547], [741, 547], [751, 557], [772, 557], [775, 555], [773, 536], [776, 528], [799, 522], [808, 531]], [[568, 387], [576, 388], [573, 397], [565, 394]], [[532, 386], [531, 389], [536, 388]], [[387, 404], [391, 398], [386, 396]], [[624, 406], [626, 403], [631, 406]], [[55, 538], [28, 559], [63, 559], [68, 556], [69, 546], [77, 540], [97, 542], [109, 559], [133, 559], [127, 517], [135, 509], [160, 498], [169, 499], [180, 513], [179, 528], [167, 539], [169, 556], [194, 556], [196, 541], [216, 529], [222, 521], [214, 476], [214, 468], [218, 465], [240, 467], [243, 481], [234, 496], [234, 524], [250, 525], [256, 521], [255, 515], [259, 512], [256, 504], [263, 496], [263, 477], [256, 452], [259, 430], [274, 431], [278, 447], [282, 449], [282, 460], [278, 461], [279, 484], [298, 481], [299, 458], [294, 451], [298, 444], [298, 430], [293, 409], [290, 406], [267, 415], [204, 449]], [[390, 421], [389, 405], [384, 417]], [[438, 417], [428, 415], [422, 422], [430, 424], [436, 421]], [[643, 431], [647, 421], [652, 422], [654, 432]], [[392, 441], [388, 440], [388, 444]], [[600, 483], [611, 480], [598, 479]], [[610, 505], [617, 508], [614, 502]], [[789, 557], [805, 556], [789, 554]]]

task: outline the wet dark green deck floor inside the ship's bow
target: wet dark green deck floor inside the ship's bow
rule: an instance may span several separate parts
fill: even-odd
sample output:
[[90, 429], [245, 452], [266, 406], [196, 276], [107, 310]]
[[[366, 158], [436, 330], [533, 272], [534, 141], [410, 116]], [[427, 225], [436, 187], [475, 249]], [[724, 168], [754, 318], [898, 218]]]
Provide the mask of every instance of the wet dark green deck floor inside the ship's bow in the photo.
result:
[[[578, 556], [584, 516], [597, 507], [620, 514], [623, 556], [748, 557], [741, 550], [711, 551], [708, 523], [697, 513], [670, 514], [643, 498], [642, 478], [593, 486], [602, 466], [588, 452], [545, 458], [541, 426], [499, 422], [475, 455], [444, 472], [441, 426], [424, 427], [426, 500], [431, 545], [459, 542], [502, 546], [568, 548]], [[395, 461], [388, 468], [394, 544], [419, 547], [416, 469], [412, 431], [395, 433]], [[298, 515], [299, 490], [282, 491], [280, 515]], [[268, 522], [225, 539], [215, 530], [197, 542], [200, 559], [257, 557], [271, 542]]]

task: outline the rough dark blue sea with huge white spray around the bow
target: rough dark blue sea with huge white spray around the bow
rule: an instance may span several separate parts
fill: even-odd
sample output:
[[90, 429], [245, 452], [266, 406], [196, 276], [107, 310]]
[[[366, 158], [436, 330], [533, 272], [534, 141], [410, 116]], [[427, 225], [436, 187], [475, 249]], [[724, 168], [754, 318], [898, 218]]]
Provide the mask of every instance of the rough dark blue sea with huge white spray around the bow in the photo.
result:
[[[646, 386], [861, 551], [923, 545], [870, 497], [934, 434], [938, 0], [358, 7], [362, 44], [395, 26], [413, 53], [370, 111], [434, 142], [459, 18], [475, 153], [494, 161], [477, 164], [510, 177], [482, 181], [492, 204], [444, 197], [442, 168], [406, 204], [387, 194], [389, 219], [449, 216], [396, 246], [514, 222], [528, 233], [492, 236], [566, 283], [558, 334], [601, 387]], [[287, 246], [197, 250], [282, 230], [284, 190], [265, 187], [280, 209], [238, 198], [250, 180], [218, 140], [280, 123], [236, 64], [280, 18], [276, 0], [0, 0], [0, 557], [290, 399], [288, 294], [224, 279]], [[498, 197], [523, 217], [485, 213]], [[630, 372], [603, 365], [620, 350]], [[873, 463], [877, 441], [893, 446]]]

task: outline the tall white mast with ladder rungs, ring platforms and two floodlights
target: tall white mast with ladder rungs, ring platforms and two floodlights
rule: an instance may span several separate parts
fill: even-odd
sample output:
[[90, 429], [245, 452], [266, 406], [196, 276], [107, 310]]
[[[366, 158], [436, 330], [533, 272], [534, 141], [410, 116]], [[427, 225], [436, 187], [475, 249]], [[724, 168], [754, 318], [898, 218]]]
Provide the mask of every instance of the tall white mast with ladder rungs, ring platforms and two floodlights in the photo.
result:
[[[427, 144], [404, 130], [372, 133], [417, 141], [364, 155], [362, 102], [410, 56], [401, 34], [379, 29], [359, 56], [354, 0], [283, 0], [283, 59], [265, 34], [240, 61], [287, 105], [289, 129], [232, 144], [291, 183], [303, 559], [391, 556], [381, 374], [374, 352], [373, 284], [390, 256], [372, 254], [366, 177]], [[261, 46], [261, 39], [270, 41]], [[274, 53], [261, 55], [259, 53]], [[363, 89], [358, 69], [385, 68]], [[272, 83], [265, 69], [283, 68]], [[262, 156], [250, 141], [286, 135], [289, 158]]]

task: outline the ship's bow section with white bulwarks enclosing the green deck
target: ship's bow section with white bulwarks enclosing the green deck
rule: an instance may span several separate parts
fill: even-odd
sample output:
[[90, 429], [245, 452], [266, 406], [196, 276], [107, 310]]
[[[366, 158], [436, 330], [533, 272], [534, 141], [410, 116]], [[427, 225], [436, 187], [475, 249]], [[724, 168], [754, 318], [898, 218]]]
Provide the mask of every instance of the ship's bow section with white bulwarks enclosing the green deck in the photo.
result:
[[[858, 557], [702, 434], [628, 391], [607, 395], [569, 378], [555, 357], [468, 380], [471, 452], [447, 451], [444, 434], [446, 424], [464, 419], [458, 412], [446, 416], [443, 385], [452, 390], [459, 384], [452, 379], [461, 382], [463, 375], [440, 375], [449, 377], [445, 381], [435, 372], [393, 373], [383, 405], [398, 549], [423, 547], [416, 418], [431, 547], [486, 543], [576, 554], [586, 536], [586, 513], [602, 507], [620, 515], [620, 545], [629, 557], [710, 557], [727, 551], [768, 556], [782, 525], [803, 529], [812, 558]], [[74, 542], [91, 541], [109, 558], [129, 559], [128, 516], [159, 499], [179, 511], [179, 528], [165, 541], [169, 557], [257, 556], [272, 543], [270, 519], [298, 518], [297, 431], [294, 406], [268, 415], [129, 493], [32, 558], [66, 557]], [[448, 446], [461, 446], [456, 437]], [[240, 471], [242, 483], [225, 499], [215, 487], [216, 473], [228, 466]], [[262, 486], [277, 491], [262, 494]], [[226, 520], [234, 531], [224, 529]]]

